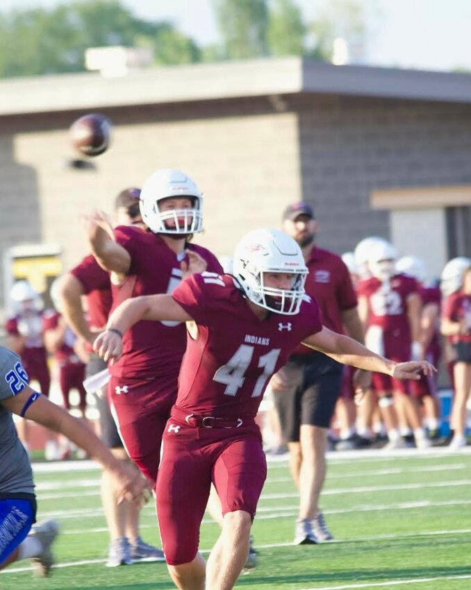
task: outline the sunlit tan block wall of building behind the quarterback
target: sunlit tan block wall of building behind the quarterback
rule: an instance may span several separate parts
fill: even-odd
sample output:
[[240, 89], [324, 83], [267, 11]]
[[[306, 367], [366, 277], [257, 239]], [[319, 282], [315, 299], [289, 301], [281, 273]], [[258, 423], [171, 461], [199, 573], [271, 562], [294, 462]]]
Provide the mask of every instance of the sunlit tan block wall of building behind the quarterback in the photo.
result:
[[106, 114], [113, 144], [90, 160], [94, 169], [67, 165], [76, 157], [68, 126], [78, 113], [10, 121], [13, 133], [0, 135], [0, 173], [10, 178], [0, 183], [0, 202], [15, 203], [15, 219], [0, 217], [3, 248], [60, 244], [68, 269], [88, 249], [83, 215], [111, 212], [120, 190], [163, 167], [188, 172], [204, 192], [205, 232], [195, 242], [220, 255], [247, 231], [278, 226], [286, 203], [301, 199], [297, 117], [273, 112], [265, 99]]

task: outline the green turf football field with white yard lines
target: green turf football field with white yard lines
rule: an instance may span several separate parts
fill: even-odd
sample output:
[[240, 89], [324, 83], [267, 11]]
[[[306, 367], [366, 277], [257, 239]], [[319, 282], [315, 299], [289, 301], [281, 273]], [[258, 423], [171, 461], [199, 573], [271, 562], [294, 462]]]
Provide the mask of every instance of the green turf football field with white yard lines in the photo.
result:
[[[34, 578], [28, 562], [0, 573], [1, 590], [173, 589], [163, 563], [106, 568], [108, 534], [91, 462], [35, 466], [39, 520], [57, 519], [58, 565]], [[297, 492], [285, 458], [269, 463], [258, 505], [256, 569], [244, 590], [469, 590], [471, 588], [471, 447], [427, 452], [347, 451], [329, 455], [322, 507], [336, 540], [293, 546]], [[160, 544], [154, 506], [141, 517], [142, 537]], [[201, 550], [218, 534], [205, 518]], [[214, 590], [214, 589], [212, 589]]]

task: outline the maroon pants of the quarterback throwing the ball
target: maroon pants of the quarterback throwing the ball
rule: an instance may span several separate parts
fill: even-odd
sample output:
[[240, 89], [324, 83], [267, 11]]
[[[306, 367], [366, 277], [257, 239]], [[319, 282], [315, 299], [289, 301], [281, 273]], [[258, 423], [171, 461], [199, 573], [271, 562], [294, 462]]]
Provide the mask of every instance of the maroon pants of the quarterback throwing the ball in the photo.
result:
[[165, 423], [176, 399], [176, 377], [112, 377], [108, 401], [126, 453], [155, 482]]

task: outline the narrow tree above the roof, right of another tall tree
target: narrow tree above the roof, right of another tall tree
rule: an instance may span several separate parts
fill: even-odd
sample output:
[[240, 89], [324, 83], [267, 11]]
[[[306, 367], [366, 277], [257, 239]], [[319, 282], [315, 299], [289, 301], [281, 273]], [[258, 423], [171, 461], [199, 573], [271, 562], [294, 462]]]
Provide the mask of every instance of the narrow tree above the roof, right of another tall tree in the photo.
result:
[[271, 55], [302, 56], [306, 31], [301, 10], [292, 0], [274, 0], [267, 31]]

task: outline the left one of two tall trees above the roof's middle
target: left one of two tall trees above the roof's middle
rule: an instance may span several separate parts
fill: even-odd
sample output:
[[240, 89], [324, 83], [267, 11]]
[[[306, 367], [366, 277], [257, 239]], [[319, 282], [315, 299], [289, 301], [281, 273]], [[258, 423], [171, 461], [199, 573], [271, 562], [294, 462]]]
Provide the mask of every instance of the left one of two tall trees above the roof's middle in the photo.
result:
[[267, 0], [213, 0], [223, 59], [267, 56]]

